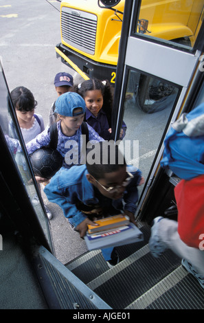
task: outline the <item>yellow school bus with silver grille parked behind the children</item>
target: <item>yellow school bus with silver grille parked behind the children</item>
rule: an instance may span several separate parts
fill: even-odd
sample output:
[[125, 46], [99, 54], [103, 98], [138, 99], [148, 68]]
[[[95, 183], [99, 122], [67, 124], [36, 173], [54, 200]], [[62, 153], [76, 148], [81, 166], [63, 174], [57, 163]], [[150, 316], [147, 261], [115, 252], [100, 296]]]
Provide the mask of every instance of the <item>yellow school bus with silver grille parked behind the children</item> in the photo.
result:
[[[56, 54], [63, 63], [85, 79], [108, 79], [114, 86], [124, 4], [125, 0], [62, 0]], [[192, 47], [198, 32], [196, 12], [202, 8], [201, 0], [142, 0], [137, 32]]]

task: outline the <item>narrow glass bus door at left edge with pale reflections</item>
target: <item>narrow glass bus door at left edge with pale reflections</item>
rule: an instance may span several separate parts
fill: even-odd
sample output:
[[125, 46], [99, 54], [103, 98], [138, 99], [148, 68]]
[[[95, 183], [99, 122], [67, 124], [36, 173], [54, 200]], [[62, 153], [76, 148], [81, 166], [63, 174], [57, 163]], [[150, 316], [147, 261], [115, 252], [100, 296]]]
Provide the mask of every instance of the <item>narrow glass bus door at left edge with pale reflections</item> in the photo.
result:
[[[40, 194], [12, 106], [1, 60], [0, 93], [0, 218], [4, 221], [5, 214], [8, 214], [8, 218], [18, 227], [16, 230], [28, 239], [35, 236], [38, 243], [53, 252], [52, 236], [41, 196], [41, 203], [34, 204], [34, 197]], [[1, 234], [2, 232], [1, 223]]]

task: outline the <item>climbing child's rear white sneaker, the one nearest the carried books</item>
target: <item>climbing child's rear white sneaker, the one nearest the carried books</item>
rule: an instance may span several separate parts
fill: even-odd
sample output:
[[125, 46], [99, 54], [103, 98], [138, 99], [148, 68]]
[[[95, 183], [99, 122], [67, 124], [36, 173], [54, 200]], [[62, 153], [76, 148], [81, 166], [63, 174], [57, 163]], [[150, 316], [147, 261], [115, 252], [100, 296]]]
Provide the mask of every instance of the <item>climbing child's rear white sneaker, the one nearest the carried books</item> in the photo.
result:
[[158, 223], [162, 219], [162, 216], [157, 216], [157, 218], [155, 218], [152, 222], [153, 224], [151, 228], [149, 248], [152, 256], [154, 256], [155, 258], [159, 258], [166, 249], [166, 246], [161, 241], [159, 241], [158, 236]]

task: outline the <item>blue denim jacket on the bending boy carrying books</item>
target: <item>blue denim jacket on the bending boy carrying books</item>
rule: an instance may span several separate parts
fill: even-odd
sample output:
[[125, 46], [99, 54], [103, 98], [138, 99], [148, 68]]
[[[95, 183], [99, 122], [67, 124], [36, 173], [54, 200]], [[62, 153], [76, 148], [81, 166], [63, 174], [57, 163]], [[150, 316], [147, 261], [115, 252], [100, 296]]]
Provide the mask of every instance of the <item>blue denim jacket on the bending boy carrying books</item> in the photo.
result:
[[[98, 197], [95, 197], [94, 186], [89, 183], [86, 175], [88, 174], [87, 166], [72, 166], [70, 169], [64, 168], [59, 170], [47, 186], [44, 192], [49, 201], [54, 202], [63, 209], [64, 215], [69, 219], [69, 223], [76, 227], [79, 223], [84, 221], [87, 216], [76, 207], [78, 201], [83, 204], [98, 204], [113, 206], [119, 212], [121, 210], [128, 210], [133, 214], [137, 210], [136, 203], [138, 201], [137, 185], [141, 179], [141, 172], [137, 170], [132, 172], [134, 178], [131, 183], [126, 186], [124, 192], [124, 204], [122, 199], [112, 200], [104, 197], [98, 191]], [[100, 198], [100, 201], [99, 199]], [[117, 212], [117, 214], [119, 213]]]

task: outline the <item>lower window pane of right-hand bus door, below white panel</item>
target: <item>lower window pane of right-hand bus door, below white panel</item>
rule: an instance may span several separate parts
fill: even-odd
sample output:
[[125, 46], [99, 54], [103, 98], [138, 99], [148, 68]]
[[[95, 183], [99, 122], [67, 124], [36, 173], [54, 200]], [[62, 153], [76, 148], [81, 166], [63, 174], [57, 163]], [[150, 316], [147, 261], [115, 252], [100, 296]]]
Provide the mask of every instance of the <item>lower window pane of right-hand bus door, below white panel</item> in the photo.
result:
[[179, 87], [130, 69], [124, 102], [125, 140], [137, 141], [139, 156], [127, 160], [147, 179], [161, 137], [174, 111]]

